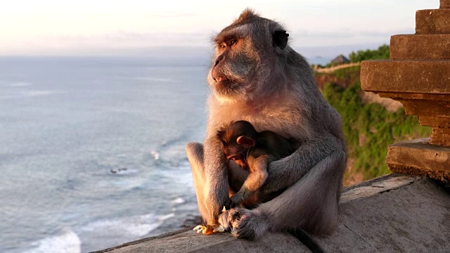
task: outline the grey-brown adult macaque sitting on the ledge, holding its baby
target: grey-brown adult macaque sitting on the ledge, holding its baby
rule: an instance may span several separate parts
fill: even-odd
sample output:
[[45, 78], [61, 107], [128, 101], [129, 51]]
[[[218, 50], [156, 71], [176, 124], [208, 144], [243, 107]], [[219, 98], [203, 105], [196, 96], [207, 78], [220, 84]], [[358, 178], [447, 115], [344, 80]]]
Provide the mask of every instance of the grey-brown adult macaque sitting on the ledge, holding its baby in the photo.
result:
[[[204, 144], [186, 146], [201, 216], [209, 224], [232, 228], [239, 238], [300, 228], [332, 232], [338, 224], [345, 139], [340, 115], [321, 96], [307, 61], [290, 48], [278, 22], [248, 9], [214, 42], [207, 136]], [[229, 202], [229, 185], [238, 190], [248, 174], [237, 165], [227, 167], [217, 131], [241, 119], [257, 131], [273, 131], [301, 145], [269, 164], [260, 188], [268, 194], [286, 190], [255, 209], [221, 213]]]

